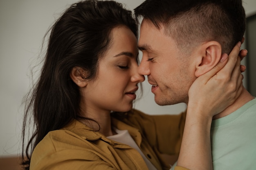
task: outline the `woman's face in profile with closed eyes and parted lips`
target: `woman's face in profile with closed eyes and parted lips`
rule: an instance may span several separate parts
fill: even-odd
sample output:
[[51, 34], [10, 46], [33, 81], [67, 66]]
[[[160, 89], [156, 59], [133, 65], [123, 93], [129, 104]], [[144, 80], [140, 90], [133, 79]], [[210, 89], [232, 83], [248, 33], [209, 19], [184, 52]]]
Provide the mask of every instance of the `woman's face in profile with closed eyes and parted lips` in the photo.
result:
[[129, 111], [135, 100], [137, 84], [144, 81], [138, 73], [137, 39], [126, 26], [112, 29], [112, 42], [100, 59], [97, 76], [82, 89], [86, 112]]

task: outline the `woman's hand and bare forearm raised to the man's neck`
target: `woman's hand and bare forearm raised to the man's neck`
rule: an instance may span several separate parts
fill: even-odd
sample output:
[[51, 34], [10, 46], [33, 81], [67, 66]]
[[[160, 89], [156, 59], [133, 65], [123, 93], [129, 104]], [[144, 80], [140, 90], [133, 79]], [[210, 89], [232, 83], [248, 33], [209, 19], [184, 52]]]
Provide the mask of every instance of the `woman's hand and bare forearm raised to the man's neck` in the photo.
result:
[[[212, 118], [231, 105], [240, 95], [245, 66], [240, 61], [247, 54], [239, 42], [229, 56], [199, 76], [189, 89], [186, 123], [177, 166], [191, 170], [212, 170], [210, 130]], [[241, 56], [238, 57], [238, 55]]]

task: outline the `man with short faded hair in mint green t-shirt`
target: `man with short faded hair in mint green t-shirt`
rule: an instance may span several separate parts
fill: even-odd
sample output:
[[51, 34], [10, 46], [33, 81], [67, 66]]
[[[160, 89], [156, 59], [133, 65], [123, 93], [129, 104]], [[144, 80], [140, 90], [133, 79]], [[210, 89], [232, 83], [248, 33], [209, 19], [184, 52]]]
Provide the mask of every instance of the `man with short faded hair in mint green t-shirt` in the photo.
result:
[[[146, 0], [135, 9], [135, 16], [143, 17], [139, 72], [148, 76], [158, 105], [185, 102], [193, 107], [189, 103], [192, 83], [213, 69], [245, 32], [241, 0]], [[255, 168], [256, 99], [242, 87], [237, 100], [216, 113], [211, 124], [213, 168]], [[189, 130], [185, 125], [184, 135]], [[182, 141], [184, 148], [189, 145], [200, 146]], [[177, 164], [189, 167], [191, 161], [184, 161], [188, 158], [184, 152], [182, 148]], [[202, 159], [208, 156], [203, 153]]]

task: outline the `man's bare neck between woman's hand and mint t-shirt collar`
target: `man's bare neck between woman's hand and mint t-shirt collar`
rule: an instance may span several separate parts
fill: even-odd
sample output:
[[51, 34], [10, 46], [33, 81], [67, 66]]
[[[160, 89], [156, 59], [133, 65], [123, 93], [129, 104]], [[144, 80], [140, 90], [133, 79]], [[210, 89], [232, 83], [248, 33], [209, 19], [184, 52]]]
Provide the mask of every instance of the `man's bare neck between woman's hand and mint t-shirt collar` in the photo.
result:
[[213, 116], [213, 120], [223, 118], [223, 117], [231, 114], [232, 112], [236, 111], [237, 109], [239, 109], [240, 107], [242, 107], [243, 105], [245, 105], [247, 102], [249, 102], [252, 99], [254, 99], [254, 97], [243, 87], [242, 93], [235, 100], [235, 102], [232, 105], [230, 105], [229, 107], [227, 107], [224, 111]]

